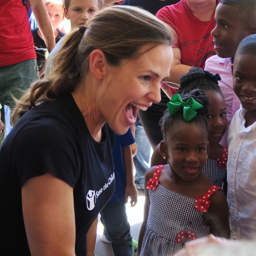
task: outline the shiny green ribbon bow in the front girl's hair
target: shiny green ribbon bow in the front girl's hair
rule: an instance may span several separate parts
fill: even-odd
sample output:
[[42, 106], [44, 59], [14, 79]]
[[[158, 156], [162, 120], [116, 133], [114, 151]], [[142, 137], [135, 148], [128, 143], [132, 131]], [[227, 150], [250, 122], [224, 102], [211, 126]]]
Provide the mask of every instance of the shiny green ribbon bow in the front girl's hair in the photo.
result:
[[196, 102], [190, 97], [186, 102], [183, 102], [178, 93], [172, 96], [172, 99], [167, 103], [169, 115], [173, 116], [180, 108], [183, 108], [183, 117], [188, 122], [195, 117], [199, 108], [203, 105]]

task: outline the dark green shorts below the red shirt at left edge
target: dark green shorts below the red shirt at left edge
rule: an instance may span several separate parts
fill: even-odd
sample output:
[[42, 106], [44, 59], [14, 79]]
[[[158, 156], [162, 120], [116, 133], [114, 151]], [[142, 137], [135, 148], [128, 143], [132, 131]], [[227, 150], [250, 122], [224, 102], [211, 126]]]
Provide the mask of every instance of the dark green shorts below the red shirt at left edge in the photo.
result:
[[[23, 93], [29, 89], [32, 82], [38, 79], [36, 59], [0, 67], [0, 104], [8, 106], [13, 111], [15, 101], [12, 96], [20, 99]], [[5, 124], [5, 108], [1, 109], [1, 120]], [[0, 135], [0, 145], [3, 143], [5, 135], [6, 128]]]

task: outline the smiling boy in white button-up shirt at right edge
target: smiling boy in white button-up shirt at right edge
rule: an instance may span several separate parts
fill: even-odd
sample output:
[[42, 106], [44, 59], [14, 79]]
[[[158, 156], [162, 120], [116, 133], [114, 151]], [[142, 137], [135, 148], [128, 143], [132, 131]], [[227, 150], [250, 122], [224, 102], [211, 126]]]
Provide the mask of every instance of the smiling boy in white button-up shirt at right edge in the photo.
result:
[[233, 64], [241, 102], [228, 132], [227, 201], [231, 239], [256, 239], [256, 35], [244, 38]]

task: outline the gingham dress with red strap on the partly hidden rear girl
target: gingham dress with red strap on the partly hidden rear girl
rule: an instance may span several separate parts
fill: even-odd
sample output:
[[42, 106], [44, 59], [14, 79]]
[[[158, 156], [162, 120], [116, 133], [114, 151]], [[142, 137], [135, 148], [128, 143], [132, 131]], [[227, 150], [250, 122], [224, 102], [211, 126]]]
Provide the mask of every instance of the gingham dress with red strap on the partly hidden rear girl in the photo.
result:
[[207, 159], [202, 172], [214, 185], [222, 187], [222, 182], [227, 172], [227, 148], [223, 147], [222, 156], [218, 160]]

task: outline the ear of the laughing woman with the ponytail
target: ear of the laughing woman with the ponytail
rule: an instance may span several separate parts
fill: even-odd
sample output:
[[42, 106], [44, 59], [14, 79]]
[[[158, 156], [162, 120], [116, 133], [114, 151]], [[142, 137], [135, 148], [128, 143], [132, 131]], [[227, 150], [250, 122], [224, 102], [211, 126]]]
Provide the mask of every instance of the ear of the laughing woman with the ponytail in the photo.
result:
[[93, 50], [90, 54], [90, 72], [97, 79], [103, 79], [106, 73], [107, 61], [102, 50]]

